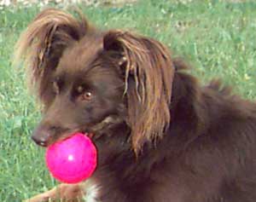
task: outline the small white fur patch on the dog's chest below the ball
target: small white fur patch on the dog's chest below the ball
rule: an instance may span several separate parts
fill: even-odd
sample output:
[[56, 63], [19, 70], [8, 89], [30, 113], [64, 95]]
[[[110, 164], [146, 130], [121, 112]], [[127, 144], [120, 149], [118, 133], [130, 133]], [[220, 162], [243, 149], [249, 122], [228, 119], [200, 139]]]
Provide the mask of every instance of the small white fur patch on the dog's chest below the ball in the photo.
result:
[[100, 185], [93, 179], [88, 179], [83, 182], [84, 201], [86, 202], [100, 202]]

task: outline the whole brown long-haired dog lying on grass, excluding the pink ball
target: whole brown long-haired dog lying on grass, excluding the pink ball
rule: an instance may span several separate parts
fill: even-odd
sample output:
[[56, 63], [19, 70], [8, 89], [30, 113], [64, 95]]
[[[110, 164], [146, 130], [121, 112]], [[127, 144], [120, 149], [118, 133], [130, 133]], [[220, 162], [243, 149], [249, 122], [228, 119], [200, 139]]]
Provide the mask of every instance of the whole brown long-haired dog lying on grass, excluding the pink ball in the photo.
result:
[[32, 140], [83, 132], [98, 153], [88, 180], [26, 201], [256, 201], [256, 104], [218, 80], [201, 85], [164, 44], [44, 9], [20, 60], [43, 108]]

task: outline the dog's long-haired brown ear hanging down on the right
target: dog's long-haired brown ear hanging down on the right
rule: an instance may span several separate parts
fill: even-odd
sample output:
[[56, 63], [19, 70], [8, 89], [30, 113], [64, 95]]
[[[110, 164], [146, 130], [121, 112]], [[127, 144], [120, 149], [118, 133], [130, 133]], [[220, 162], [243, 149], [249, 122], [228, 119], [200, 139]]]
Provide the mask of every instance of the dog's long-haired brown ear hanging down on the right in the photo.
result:
[[[174, 66], [169, 50], [152, 38], [113, 30], [103, 38], [103, 49], [117, 51], [125, 60], [128, 120], [136, 153], [147, 141], [156, 141], [170, 123]], [[121, 59], [120, 59], [121, 60]]]

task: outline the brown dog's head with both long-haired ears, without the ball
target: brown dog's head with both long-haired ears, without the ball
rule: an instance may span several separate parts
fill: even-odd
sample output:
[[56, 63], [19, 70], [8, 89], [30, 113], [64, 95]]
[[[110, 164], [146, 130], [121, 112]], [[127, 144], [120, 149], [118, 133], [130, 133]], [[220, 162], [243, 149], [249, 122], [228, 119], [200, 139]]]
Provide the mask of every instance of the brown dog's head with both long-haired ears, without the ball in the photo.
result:
[[45, 9], [17, 43], [44, 117], [32, 138], [42, 146], [75, 131], [94, 136], [113, 124], [131, 130], [140, 151], [170, 123], [174, 68], [161, 43], [131, 32], [100, 32], [83, 16]]

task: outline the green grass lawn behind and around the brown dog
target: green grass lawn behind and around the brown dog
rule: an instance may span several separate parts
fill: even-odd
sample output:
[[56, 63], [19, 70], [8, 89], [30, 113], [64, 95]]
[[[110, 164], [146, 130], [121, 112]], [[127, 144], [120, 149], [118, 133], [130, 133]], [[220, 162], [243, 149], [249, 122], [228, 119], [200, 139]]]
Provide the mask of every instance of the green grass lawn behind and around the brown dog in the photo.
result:
[[[127, 28], [166, 43], [173, 55], [194, 66], [203, 83], [222, 78], [240, 95], [256, 97], [256, 3], [232, 1], [142, 1], [119, 7], [83, 9], [105, 28]], [[228, 3], [229, 2], [229, 3]], [[24, 68], [11, 66], [20, 32], [38, 8], [0, 11], [0, 201], [40, 193], [56, 182], [44, 165], [44, 149], [30, 140], [40, 115], [26, 90]]]

